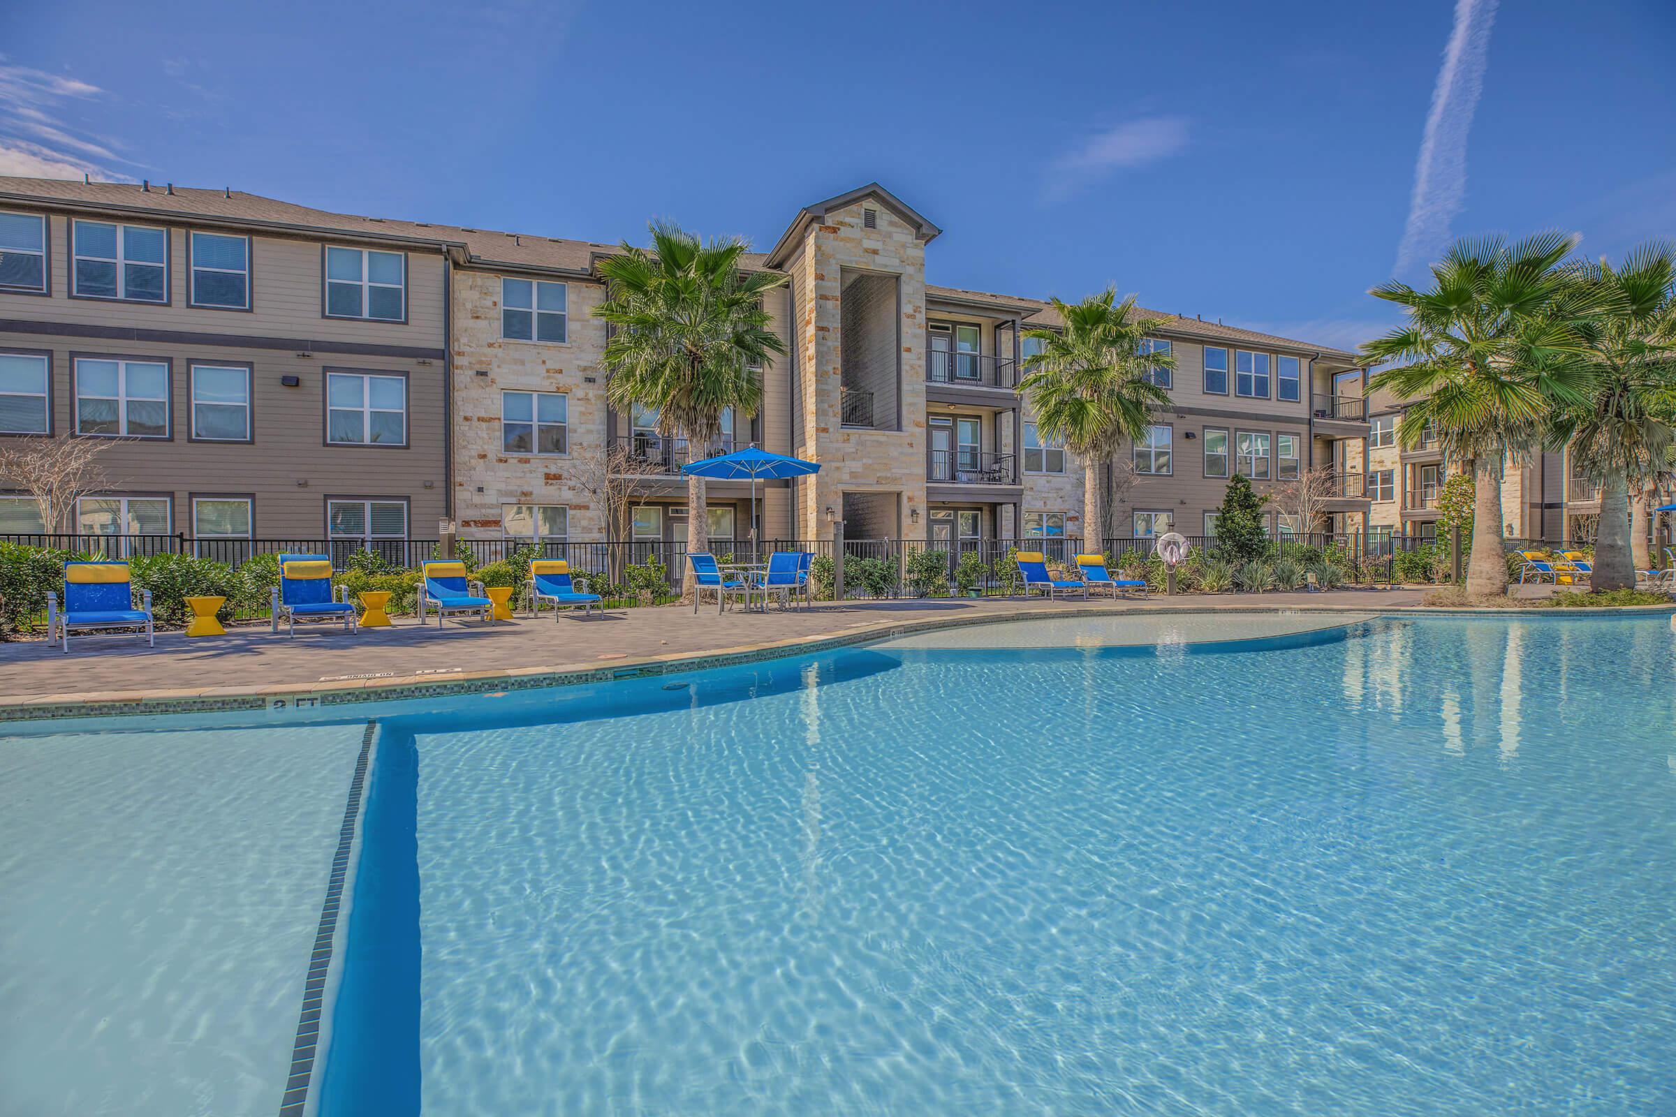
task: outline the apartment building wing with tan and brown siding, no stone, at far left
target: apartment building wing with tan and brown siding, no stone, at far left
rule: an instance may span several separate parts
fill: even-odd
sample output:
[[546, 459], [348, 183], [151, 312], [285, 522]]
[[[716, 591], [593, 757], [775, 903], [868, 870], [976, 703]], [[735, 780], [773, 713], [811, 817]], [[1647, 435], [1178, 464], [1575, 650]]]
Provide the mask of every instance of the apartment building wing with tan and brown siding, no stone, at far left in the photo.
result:
[[111, 482], [59, 526], [0, 491], [0, 533], [434, 533], [451, 250], [230, 189], [0, 178], [0, 437], [107, 439]]

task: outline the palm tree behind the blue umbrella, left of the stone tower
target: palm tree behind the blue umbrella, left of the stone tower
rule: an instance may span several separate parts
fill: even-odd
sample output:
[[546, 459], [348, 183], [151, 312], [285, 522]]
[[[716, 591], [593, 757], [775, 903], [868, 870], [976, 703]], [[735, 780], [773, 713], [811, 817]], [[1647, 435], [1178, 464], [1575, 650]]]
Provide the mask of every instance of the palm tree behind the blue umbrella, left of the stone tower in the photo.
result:
[[[657, 409], [659, 435], [704, 447], [721, 434], [722, 412], [754, 415], [763, 405], [763, 370], [786, 352], [763, 296], [786, 276], [744, 271], [747, 246], [737, 238], [702, 243], [670, 223], [650, 228], [650, 250], [625, 243], [600, 261], [608, 288], [593, 313], [612, 327], [605, 399], [622, 412]], [[709, 543], [704, 477], [689, 476], [687, 549]]]

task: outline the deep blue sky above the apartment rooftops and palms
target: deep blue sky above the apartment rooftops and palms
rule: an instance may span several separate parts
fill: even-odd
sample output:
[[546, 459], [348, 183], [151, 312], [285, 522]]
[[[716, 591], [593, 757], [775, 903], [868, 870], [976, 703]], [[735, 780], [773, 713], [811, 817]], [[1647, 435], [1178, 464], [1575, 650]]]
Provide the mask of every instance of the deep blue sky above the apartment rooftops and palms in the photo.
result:
[[0, 8], [8, 174], [759, 248], [878, 179], [934, 283], [1332, 345], [1448, 236], [1676, 236], [1669, 0]]

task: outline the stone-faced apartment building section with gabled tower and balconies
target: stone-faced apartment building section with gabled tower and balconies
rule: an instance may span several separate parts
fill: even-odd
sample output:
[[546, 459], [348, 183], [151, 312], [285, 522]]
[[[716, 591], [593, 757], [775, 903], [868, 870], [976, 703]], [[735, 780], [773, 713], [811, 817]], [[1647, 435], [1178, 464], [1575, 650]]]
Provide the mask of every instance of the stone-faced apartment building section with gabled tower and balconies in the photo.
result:
[[[768, 303], [788, 353], [764, 370], [763, 414], [729, 417], [706, 447], [605, 402], [605, 330], [590, 310], [603, 296], [593, 263], [608, 246], [543, 241], [541, 261], [456, 270], [461, 534], [605, 538], [610, 474], [613, 499], [632, 506], [630, 538], [679, 543], [680, 467], [754, 442], [821, 462], [820, 474], [759, 489], [763, 539], [828, 539], [838, 521], [850, 539], [1081, 538], [1081, 462], [1039, 435], [1017, 390], [1032, 345], [1024, 333], [1058, 327], [1051, 305], [929, 285], [939, 233], [878, 184], [801, 208], [768, 253], [747, 258], [788, 276]], [[1331, 514], [1366, 522], [1364, 378], [1353, 353], [1146, 313], [1165, 320], [1151, 343], [1177, 358], [1165, 385], [1173, 405], [1120, 454], [1133, 484], [1115, 509], [1116, 534], [1200, 534], [1234, 472], [1275, 491], [1334, 466], [1354, 477]], [[717, 548], [747, 539], [749, 486], [712, 482], [709, 517]]]

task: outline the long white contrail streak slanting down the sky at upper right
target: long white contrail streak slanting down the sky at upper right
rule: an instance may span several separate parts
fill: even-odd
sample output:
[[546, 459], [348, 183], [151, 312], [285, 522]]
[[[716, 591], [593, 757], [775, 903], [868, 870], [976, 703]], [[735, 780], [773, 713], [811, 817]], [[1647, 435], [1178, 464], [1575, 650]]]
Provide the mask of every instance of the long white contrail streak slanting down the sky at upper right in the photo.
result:
[[1415, 161], [1415, 194], [1408, 224], [1396, 250], [1396, 271], [1425, 265], [1441, 255], [1450, 223], [1466, 198], [1466, 134], [1483, 94], [1490, 55], [1490, 27], [1498, 0], [1455, 0], [1455, 30], [1443, 50], [1431, 112]]

